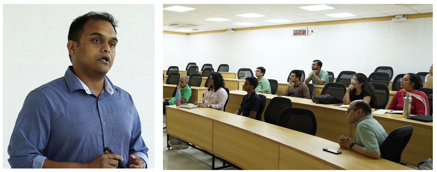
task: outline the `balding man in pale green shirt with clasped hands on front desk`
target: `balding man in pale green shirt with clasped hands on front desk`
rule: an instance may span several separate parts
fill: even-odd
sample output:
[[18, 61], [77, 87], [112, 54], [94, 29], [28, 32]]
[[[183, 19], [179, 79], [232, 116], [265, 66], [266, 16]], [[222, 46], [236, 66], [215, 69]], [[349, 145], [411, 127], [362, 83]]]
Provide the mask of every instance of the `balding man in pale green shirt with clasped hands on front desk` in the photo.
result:
[[371, 112], [372, 109], [366, 101], [352, 101], [347, 109], [346, 118], [349, 124], [354, 124], [355, 128], [357, 128], [355, 131], [355, 142], [352, 142], [349, 137], [341, 135], [338, 138], [338, 145], [345, 149], [351, 149], [361, 155], [379, 159], [381, 157], [379, 146], [381, 146], [388, 134], [382, 125], [373, 118]]

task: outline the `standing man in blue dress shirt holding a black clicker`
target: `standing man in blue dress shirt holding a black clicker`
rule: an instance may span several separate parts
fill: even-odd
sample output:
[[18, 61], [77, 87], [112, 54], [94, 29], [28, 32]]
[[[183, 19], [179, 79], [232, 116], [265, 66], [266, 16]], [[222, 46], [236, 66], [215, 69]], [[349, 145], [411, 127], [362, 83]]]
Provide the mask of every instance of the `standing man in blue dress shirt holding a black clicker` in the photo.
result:
[[106, 76], [115, 27], [106, 12], [73, 20], [67, 43], [73, 66], [24, 100], [7, 149], [11, 168], [116, 168], [117, 160], [146, 168], [149, 149], [132, 97]]

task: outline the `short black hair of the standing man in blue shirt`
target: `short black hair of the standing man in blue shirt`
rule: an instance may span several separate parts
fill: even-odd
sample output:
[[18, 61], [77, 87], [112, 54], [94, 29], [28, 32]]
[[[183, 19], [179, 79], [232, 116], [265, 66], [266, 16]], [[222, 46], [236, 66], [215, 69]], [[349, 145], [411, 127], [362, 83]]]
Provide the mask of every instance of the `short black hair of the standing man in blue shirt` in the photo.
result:
[[[85, 25], [85, 23], [87, 23], [87, 21], [90, 19], [108, 21], [109, 23], [111, 23], [112, 27], [114, 27], [115, 34], [117, 34], [117, 30], [115, 30], [115, 27], [118, 27], [117, 26], [118, 21], [115, 20], [114, 16], [112, 16], [111, 14], [105, 11], [104, 12], [91, 11], [89, 13], [83, 14], [83, 16], [79, 16], [75, 18], [73, 22], [71, 22], [70, 29], [68, 30], [68, 40], [73, 40], [77, 42], [77, 44], [80, 44], [79, 40], [83, 33], [83, 25]], [[70, 57], [70, 62], [71, 62], [71, 55], [68, 54], [68, 56]]]

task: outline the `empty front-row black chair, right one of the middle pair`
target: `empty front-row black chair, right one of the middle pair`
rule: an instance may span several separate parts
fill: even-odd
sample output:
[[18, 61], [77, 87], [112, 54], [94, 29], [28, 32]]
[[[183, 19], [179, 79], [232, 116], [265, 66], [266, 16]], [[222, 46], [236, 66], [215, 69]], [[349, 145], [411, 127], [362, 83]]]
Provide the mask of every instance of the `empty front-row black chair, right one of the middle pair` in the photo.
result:
[[285, 108], [277, 120], [277, 126], [316, 135], [317, 121], [314, 113], [304, 108]]

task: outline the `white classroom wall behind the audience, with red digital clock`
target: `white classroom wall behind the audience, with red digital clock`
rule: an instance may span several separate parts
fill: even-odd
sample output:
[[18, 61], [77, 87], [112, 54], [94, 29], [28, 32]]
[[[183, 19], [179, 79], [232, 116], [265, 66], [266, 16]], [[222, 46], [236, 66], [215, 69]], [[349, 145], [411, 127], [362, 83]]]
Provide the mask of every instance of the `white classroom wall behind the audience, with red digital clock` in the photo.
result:
[[[367, 76], [378, 66], [393, 67], [397, 74], [428, 72], [433, 63], [433, 18], [404, 22], [378, 21], [354, 24], [309, 26], [317, 33], [292, 36], [293, 29], [246, 30], [235, 33], [199, 35], [164, 34], [163, 70], [178, 66], [184, 71], [188, 62], [229, 64], [229, 72], [239, 68], [266, 68], [267, 79], [285, 83], [290, 71], [311, 72], [313, 60], [335, 76], [355, 71]], [[305, 78], [306, 78], [305, 76]], [[393, 76], [393, 78], [394, 78]]]

